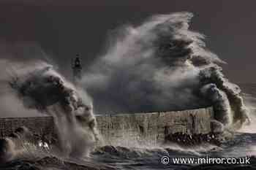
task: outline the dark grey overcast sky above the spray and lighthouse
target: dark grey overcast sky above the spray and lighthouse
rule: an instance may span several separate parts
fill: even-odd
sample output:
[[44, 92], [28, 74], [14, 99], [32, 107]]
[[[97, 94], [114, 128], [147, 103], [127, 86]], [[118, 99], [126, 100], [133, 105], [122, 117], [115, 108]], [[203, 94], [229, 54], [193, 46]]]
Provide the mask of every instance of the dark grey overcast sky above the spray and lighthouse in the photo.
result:
[[75, 54], [85, 65], [99, 56], [114, 28], [154, 14], [189, 11], [195, 14], [190, 28], [206, 34], [208, 48], [227, 61], [227, 77], [256, 82], [255, 5], [254, 0], [0, 0], [0, 40], [37, 43], [67, 74]]

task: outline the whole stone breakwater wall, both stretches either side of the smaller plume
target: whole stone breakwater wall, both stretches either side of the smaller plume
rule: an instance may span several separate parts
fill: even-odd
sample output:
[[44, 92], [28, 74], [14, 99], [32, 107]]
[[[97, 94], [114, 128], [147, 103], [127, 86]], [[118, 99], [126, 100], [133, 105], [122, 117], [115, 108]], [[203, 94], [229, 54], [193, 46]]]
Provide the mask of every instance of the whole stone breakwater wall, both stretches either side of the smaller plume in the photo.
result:
[[[118, 115], [97, 115], [99, 134], [105, 144], [136, 146], [165, 142], [165, 136], [208, 134], [214, 112], [211, 107], [171, 112], [146, 112]], [[0, 118], [0, 137], [26, 126], [37, 136], [56, 136], [52, 117]]]

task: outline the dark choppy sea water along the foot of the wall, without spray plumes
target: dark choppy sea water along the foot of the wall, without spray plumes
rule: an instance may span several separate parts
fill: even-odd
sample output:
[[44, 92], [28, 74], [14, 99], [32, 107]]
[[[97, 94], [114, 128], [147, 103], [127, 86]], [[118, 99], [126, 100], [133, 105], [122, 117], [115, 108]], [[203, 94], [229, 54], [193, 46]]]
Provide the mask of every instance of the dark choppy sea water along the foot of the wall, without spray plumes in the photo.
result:
[[[60, 158], [47, 150], [28, 150], [23, 158], [17, 158], [0, 165], [0, 169], [256, 169], [256, 84], [240, 85], [246, 104], [251, 108], [252, 123], [236, 132], [233, 138], [220, 146], [200, 144], [181, 147], [178, 144], [152, 147], [97, 147], [89, 158]], [[162, 163], [162, 158], [169, 163]], [[173, 163], [173, 158], [249, 158], [249, 164], [181, 164]]]

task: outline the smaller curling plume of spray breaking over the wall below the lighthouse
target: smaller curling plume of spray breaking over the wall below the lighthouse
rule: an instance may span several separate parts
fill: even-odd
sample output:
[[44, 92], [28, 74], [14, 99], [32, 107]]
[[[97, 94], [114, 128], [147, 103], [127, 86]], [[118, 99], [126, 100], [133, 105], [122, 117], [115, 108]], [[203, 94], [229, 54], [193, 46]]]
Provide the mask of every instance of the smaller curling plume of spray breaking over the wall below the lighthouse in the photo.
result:
[[[85, 92], [79, 93], [47, 63], [22, 73], [15, 73], [17, 76], [12, 77], [10, 87], [17, 92], [23, 105], [53, 116], [64, 155], [88, 155], [97, 140], [96, 120], [89, 96]], [[83, 121], [83, 125], [87, 127], [78, 123], [77, 114], [85, 116], [87, 121]]]

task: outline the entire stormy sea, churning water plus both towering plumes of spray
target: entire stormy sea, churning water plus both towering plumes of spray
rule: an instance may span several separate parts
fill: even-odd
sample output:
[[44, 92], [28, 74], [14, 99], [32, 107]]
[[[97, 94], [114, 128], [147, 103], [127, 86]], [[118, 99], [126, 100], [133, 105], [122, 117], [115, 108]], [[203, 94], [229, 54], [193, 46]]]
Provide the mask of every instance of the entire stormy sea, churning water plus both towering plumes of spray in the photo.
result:
[[[118, 28], [106, 52], [74, 82], [49, 61], [1, 60], [1, 68], [13, 66], [1, 77], [1, 100], [10, 101], [1, 107], [18, 107], [20, 117], [31, 110], [53, 117], [58, 141], [34, 140], [26, 127], [13, 129], [0, 139], [0, 169], [256, 169], [256, 85], [235, 85], [224, 76], [225, 61], [206, 48], [203, 34], [189, 29], [192, 17], [156, 15], [139, 26]], [[212, 134], [173, 134], [170, 142], [155, 145], [105, 145], [94, 115], [205, 107], [214, 109]], [[173, 158], [246, 162], [175, 163]]]

